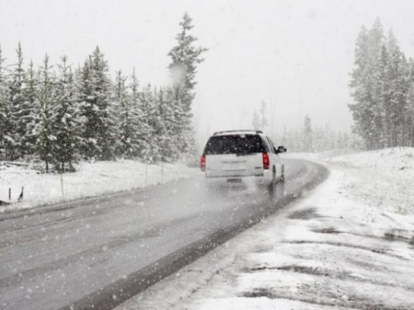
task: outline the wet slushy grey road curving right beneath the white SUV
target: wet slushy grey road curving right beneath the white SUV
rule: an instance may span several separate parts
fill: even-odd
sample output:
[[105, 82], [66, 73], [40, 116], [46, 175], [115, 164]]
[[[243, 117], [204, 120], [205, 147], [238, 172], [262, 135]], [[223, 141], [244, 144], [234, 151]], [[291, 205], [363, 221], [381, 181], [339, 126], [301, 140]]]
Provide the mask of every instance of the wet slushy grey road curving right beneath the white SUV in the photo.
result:
[[[281, 208], [327, 174], [286, 160], [286, 195], [202, 177], [0, 217], [1, 309], [112, 308]], [[26, 216], [22, 216], [26, 215]]]

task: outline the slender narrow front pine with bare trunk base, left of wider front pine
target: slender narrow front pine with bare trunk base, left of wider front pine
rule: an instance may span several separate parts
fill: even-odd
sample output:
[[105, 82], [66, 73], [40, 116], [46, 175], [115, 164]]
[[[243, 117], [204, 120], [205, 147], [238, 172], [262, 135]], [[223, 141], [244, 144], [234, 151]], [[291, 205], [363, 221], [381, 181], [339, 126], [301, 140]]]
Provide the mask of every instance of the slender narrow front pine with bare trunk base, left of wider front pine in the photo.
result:
[[39, 122], [36, 126], [36, 153], [40, 159], [45, 162], [45, 171], [49, 172], [49, 164], [53, 160], [53, 144], [56, 136], [53, 135], [53, 87], [54, 81], [50, 73], [49, 56], [46, 54], [41, 66], [41, 75], [39, 80], [38, 105]]

